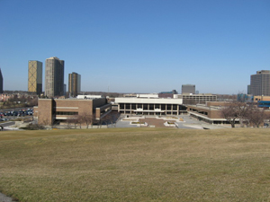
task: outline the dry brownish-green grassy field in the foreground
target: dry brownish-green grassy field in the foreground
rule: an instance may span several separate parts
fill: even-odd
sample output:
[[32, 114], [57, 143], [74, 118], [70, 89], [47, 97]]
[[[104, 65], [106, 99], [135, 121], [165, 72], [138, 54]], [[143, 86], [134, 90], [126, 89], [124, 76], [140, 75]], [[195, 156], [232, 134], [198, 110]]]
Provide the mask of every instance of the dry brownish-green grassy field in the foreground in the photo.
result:
[[19, 201], [270, 201], [270, 130], [0, 133], [0, 192]]

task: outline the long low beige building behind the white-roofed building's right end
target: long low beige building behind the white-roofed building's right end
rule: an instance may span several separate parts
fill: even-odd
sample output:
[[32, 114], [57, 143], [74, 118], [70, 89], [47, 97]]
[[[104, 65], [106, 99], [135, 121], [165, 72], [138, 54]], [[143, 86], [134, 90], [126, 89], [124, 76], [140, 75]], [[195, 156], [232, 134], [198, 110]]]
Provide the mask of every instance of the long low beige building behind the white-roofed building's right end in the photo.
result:
[[175, 94], [174, 98], [183, 99], [183, 104], [205, 104], [206, 101], [217, 101], [217, 95], [211, 93]]

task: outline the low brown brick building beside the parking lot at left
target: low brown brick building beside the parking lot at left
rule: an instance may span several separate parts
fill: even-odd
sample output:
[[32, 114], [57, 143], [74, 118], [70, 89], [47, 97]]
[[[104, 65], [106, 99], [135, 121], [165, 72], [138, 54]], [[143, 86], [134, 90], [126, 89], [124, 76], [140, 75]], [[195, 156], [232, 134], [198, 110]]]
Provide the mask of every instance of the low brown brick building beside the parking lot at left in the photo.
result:
[[53, 125], [75, 119], [76, 116], [94, 116], [103, 119], [112, 110], [112, 105], [105, 98], [85, 99], [39, 99], [34, 107], [34, 117], [40, 125]]

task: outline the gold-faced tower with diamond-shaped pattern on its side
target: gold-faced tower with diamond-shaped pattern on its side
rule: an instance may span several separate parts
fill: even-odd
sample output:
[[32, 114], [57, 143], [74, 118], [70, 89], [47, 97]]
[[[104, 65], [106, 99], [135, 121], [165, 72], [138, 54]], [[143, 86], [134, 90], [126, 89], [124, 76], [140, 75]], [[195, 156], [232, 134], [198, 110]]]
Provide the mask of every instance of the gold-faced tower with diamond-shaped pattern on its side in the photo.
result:
[[28, 61], [28, 92], [42, 92], [42, 63], [36, 60]]

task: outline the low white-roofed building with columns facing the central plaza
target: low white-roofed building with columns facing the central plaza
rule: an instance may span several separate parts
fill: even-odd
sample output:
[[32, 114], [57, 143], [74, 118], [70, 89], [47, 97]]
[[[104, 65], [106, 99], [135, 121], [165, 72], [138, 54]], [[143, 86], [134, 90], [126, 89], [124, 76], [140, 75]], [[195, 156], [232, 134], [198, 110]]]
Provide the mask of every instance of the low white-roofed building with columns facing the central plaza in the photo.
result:
[[114, 106], [123, 114], [137, 115], [180, 115], [185, 113], [182, 99], [151, 97], [115, 98]]

